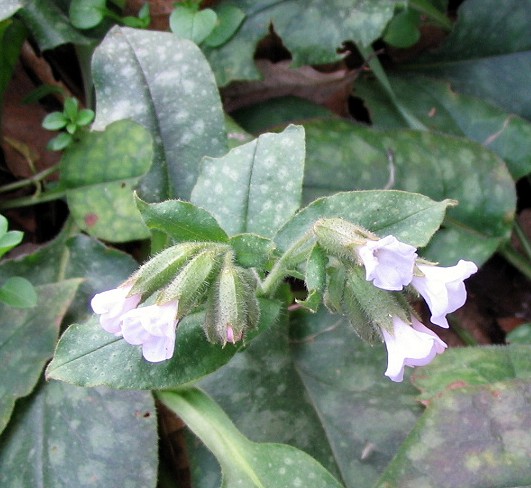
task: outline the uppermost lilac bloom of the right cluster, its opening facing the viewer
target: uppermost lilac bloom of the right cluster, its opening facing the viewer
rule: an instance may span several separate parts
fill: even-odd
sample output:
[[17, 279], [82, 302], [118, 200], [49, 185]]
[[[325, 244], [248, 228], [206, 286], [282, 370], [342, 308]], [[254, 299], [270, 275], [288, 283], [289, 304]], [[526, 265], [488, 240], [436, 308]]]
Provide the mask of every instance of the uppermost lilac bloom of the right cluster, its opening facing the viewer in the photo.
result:
[[413, 279], [416, 249], [394, 236], [367, 241], [357, 249], [367, 281], [382, 290], [401, 290]]

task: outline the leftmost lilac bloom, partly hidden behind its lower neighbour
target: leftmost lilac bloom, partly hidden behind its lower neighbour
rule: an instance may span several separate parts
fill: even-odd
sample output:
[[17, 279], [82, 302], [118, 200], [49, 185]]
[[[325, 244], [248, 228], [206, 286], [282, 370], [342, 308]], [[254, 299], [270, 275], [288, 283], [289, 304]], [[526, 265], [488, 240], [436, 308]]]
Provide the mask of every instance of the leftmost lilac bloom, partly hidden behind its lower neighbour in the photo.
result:
[[101, 326], [115, 336], [122, 335], [122, 316], [124, 313], [136, 308], [141, 295], [136, 294], [128, 297], [132, 286], [119, 286], [112, 290], [94, 295], [90, 305], [94, 313], [100, 315]]

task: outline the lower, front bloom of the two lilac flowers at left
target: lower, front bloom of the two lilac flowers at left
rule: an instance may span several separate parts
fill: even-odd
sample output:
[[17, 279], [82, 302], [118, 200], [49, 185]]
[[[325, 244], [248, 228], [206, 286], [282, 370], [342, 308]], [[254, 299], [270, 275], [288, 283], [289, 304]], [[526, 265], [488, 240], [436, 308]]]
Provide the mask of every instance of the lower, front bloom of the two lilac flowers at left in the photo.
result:
[[122, 333], [126, 342], [142, 346], [142, 355], [152, 363], [173, 356], [178, 302], [149, 305], [127, 312], [122, 317]]

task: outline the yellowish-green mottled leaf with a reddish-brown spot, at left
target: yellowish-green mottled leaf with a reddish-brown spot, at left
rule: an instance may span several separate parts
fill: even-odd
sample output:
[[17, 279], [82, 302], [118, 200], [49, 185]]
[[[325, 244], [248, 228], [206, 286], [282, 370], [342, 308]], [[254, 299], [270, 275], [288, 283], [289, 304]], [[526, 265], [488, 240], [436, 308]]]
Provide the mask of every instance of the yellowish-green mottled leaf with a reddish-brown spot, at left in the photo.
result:
[[88, 133], [72, 145], [63, 156], [61, 182], [77, 225], [111, 242], [148, 237], [132, 189], [152, 156], [149, 132], [129, 120]]

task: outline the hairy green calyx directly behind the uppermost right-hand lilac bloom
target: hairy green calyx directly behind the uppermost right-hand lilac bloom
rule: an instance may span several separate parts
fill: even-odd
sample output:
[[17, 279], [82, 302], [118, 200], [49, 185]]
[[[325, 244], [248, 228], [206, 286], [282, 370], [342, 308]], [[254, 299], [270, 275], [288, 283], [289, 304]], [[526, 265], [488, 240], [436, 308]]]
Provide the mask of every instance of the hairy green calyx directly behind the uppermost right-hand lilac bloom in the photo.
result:
[[338, 218], [319, 219], [313, 226], [313, 232], [324, 249], [334, 256], [351, 261], [358, 260], [356, 249], [367, 238], [374, 238], [362, 227]]

